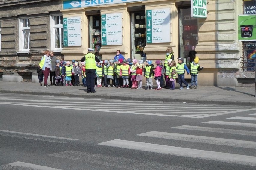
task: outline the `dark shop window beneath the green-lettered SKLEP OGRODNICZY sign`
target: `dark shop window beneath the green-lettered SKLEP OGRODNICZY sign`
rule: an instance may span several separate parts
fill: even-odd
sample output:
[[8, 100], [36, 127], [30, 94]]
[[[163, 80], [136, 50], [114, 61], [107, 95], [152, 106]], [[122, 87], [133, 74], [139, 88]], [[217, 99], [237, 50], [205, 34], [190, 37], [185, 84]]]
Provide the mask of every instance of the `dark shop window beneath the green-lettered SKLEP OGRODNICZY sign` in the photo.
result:
[[191, 8], [179, 9], [179, 56], [187, 64], [196, 54], [197, 33], [197, 18], [191, 17]]

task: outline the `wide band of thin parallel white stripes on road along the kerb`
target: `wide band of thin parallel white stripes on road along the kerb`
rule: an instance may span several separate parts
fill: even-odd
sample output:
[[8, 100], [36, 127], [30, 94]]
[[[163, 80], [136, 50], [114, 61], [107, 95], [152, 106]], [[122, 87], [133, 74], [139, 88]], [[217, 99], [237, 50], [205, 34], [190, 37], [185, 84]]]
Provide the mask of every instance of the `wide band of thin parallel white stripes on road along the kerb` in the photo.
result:
[[[241, 106], [127, 101], [10, 93], [0, 93], [0, 104], [187, 118], [203, 118], [250, 110]], [[253, 109], [256, 110], [256, 108]]]

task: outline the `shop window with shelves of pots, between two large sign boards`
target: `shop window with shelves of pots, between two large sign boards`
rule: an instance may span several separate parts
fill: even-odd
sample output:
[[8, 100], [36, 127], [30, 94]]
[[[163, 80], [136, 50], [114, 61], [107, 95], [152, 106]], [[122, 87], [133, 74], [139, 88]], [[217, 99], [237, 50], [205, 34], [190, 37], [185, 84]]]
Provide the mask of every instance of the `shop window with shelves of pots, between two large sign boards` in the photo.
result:
[[145, 10], [131, 13], [131, 54], [137, 60], [146, 60], [143, 52], [146, 46], [146, 19]]

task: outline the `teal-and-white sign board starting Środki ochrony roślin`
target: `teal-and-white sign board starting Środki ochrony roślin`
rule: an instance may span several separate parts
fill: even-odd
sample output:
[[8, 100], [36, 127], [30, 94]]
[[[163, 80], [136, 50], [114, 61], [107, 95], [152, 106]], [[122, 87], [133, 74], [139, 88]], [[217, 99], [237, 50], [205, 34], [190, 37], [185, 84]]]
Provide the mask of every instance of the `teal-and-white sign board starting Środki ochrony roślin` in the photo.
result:
[[147, 43], [171, 42], [171, 9], [146, 10]]

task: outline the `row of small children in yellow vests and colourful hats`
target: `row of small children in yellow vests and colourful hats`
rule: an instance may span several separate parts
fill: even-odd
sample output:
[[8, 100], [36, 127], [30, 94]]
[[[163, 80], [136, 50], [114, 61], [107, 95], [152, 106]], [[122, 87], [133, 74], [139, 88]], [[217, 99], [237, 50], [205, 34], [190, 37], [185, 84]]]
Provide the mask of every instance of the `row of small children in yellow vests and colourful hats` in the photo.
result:
[[[178, 82], [180, 84], [180, 89], [183, 89], [182, 83], [191, 89], [197, 88], [197, 75], [198, 71], [202, 70], [203, 67], [200, 68], [198, 64], [198, 57], [195, 57], [194, 61], [190, 63], [189, 68], [184, 63], [183, 58], [178, 58], [178, 64], [172, 59], [167, 60], [167, 64], [163, 66], [161, 60], [156, 60], [156, 67], [154, 69], [154, 65], [152, 64], [152, 60], [146, 60], [144, 74], [143, 60], [133, 59], [130, 62], [130, 59], [123, 60], [104, 60], [97, 63], [96, 62], [96, 87], [110, 87], [110, 80], [112, 80], [112, 87], [117, 88], [132, 88], [132, 89], [142, 89], [142, 79], [143, 75], [146, 77], [146, 90], [153, 89], [153, 81], [154, 79], [157, 84], [156, 90], [161, 90], [161, 81], [163, 81], [163, 77], [166, 81], [166, 86], [164, 88], [174, 90], [175, 89], [175, 81], [176, 81], [176, 73], [178, 75]], [[56, 86], [80, 86], [79, 77], [82, 77], [82, 84], [86, 86], [86, 75], [85, 75], [85, 62], [81, 62], [81, 66], [79, 66], [78, 62], [72, 60], [72, 64], [69, 61], [56, 61], [55, 67], [55, 78], [56, 78]], [[185, 70], [187, 74], [191, 75], [191, 86], [185, 81], [184, 73]], [[39, 70], [40, 71], [40, 70]], [[42, 81], [42, 76], [39, 76], [41, 72], [38, 72], [39, 81]], [[74, 78], [74, 84], [71, 83], [71, 77]]]

